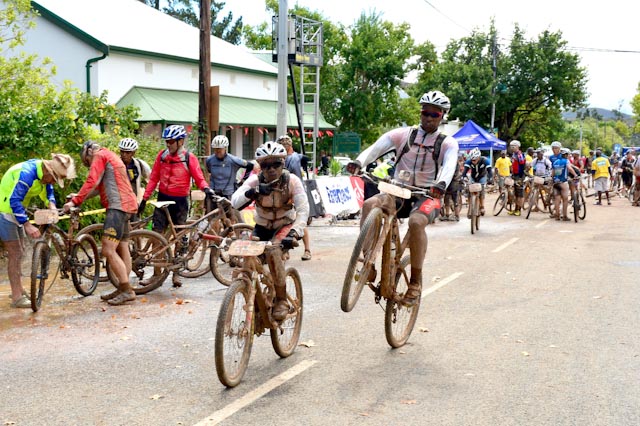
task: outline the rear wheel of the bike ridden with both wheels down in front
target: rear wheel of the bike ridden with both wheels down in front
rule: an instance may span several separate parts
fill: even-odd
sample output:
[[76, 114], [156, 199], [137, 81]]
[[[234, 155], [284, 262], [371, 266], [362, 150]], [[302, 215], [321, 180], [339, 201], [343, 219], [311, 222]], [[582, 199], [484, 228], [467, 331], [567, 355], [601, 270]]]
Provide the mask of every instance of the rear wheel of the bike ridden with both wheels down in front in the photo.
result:
[[294, 268], [287, 268], [285, 274], [289, 313], [279, 327], [270, 330], [271, 345], [281, 358], [286, 358], [296, 350], [302, 329], [302, 280]]

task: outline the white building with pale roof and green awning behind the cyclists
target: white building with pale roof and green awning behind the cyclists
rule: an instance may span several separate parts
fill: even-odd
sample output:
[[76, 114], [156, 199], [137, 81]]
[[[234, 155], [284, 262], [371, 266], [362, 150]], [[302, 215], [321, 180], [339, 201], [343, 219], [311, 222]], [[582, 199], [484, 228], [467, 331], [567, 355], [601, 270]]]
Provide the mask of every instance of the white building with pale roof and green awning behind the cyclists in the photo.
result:
[[[56, 83], [119, 106], [140, 108], [146, 131], [198, 120], [199, 29], [138, 0], [38, 0], [40, 16], [27, 32], [24, 51], [49, 57]], [[211, 85], [220, 87], [220, 133], [231, 152], [252, 155], [275, 137], [277, 68], [245, 48], [211, 36]], [[288, 124], [296, 128], [290, 105]], [[321, 128], [334, 126], [321, 120]]]

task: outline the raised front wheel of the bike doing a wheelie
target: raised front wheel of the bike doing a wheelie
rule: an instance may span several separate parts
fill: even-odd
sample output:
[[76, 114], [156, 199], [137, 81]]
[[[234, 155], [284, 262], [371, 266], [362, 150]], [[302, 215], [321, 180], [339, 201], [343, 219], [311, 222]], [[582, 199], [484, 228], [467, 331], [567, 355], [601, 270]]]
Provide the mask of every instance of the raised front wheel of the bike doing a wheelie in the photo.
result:
[[[340, 307], [344, 312], [351, 312], [354, 308], [364, 285], [369, 280], [370, 272], [374, 268], [376, 259], [373, 257], [374, 252], [372, 249], [378, 243], [378, 239], [382, 237], [382, 218], [382, 210], [375, 208], [371, 210], [360, 229], [360, 235], [353, 247], [351, 260], [349, 261], [349, 266], [347, 266], [347, 273], [342, 284]], [[363, 248], [369, 250], [363, 253]]]

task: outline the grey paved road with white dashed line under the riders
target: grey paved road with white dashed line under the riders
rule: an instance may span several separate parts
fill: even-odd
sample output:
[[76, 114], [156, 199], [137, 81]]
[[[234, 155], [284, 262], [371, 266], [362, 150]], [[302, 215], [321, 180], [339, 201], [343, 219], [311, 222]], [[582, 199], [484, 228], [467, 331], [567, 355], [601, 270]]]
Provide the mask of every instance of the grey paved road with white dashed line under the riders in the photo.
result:
[[397, 350], [367, 289], [339, 307], [357, 224], [316, 221], [313, 260], [291, 260], [308, 347], [281, 360], [257, 338], [231, 390], [213, 361], [225, 288], [210, 277], [126, 307], [61, 282], [37, 314], [8, 309], [1, 284], [0, 424], [637, 425], [639, 214], [616, 199], [578, 224], [429, 227], [423, 305]]

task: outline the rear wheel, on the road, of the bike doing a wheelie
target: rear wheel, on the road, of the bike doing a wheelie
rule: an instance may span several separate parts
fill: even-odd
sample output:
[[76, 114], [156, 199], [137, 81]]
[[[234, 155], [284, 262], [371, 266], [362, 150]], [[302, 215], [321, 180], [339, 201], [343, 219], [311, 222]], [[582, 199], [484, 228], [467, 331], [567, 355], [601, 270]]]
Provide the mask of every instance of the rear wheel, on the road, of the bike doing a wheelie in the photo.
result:
[[[396, 271], [393, 294], [406, 293], [409, 288], [409, 271], [407, 269], [410, 266], [410, 260], [408, 255], [402, 258]], [[413, 326], [418, 318], [420, 300], [421, 297], [418, 297], [413, 306], [405, 306], [402, 303], [387, 300], [384, 315], [384, 335], [387, 338], [387, 343], [392, 348], [399, 348], [409, 340]]]

